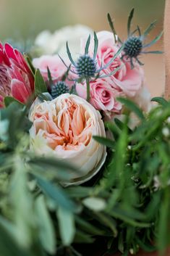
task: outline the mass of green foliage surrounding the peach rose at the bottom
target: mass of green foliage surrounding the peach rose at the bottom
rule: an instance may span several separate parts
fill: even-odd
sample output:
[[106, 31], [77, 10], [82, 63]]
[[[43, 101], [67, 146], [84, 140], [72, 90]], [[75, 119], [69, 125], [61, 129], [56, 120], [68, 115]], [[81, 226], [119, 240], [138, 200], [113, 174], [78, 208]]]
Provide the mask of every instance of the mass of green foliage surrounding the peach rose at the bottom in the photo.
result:
[[30, 152], [27, 106], [0, 110], [0, 255], [80, 255], [83, 244], [101, 239], [103, 251], [122, 255], [166, 249], [170, 102], [153, 99], [158, 106], [144, 115], [119, 100], [141, 123], [132, 131], [129, 111], [124, 122], [106, 123], [113, 138], [94, 137], [108, 146], [105, 166], [83, 186], [61, 185], [79, 171], [74, 166]]

